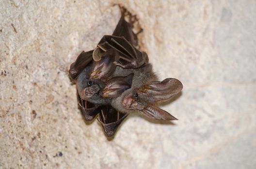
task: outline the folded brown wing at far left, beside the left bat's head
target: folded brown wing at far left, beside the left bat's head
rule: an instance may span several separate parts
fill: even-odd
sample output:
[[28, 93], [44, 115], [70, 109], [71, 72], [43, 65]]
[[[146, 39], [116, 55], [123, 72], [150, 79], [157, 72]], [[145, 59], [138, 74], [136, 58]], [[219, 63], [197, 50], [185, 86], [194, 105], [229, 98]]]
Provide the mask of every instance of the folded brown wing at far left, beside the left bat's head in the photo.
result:
[[93, 51], [82, 51], [76, 61], [70, 65], [68, 72], [72, 80], [75, 80], [80, 72], [93, 60], [92, 55]]

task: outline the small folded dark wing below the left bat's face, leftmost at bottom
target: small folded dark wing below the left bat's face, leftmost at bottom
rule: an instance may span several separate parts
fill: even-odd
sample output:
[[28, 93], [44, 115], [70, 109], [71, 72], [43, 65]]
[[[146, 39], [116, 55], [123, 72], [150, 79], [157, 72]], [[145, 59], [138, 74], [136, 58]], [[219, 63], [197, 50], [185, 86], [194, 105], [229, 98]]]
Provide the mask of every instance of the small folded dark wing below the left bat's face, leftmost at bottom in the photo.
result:
[[80, 98], [77, 90], [78, 107], [85, 121], [93, 120], [100, 112], [101, 106]]

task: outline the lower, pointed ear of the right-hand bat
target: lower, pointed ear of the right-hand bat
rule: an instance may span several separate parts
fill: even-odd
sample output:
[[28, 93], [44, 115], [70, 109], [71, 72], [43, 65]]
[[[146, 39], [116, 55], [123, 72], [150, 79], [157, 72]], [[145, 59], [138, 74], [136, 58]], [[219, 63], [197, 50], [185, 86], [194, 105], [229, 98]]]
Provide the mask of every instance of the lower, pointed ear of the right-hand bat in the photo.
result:
[[156, 107], [148, 106], [142, 110], [143, 115], [157, 120], [178, 120], [172, 114]]

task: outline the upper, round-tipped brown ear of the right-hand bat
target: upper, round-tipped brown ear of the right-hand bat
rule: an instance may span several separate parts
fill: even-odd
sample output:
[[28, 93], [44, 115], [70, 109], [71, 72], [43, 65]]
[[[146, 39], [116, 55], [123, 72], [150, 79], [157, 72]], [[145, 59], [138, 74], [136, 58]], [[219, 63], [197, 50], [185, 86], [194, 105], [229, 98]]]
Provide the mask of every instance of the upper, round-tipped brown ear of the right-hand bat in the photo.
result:
[[144, 85], [143, 88], [146, 93], [153, 95], [156, 101], [160, 101], [174, 97], [182, 90], [183, 85], [175, 78], [167, 78], [161, 82]]

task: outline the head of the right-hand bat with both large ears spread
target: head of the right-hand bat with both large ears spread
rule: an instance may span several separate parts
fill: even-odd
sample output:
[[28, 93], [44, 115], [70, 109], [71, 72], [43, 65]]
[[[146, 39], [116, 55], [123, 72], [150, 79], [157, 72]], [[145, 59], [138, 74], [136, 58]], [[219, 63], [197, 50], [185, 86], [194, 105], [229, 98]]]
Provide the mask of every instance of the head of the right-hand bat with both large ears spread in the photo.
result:
[[[136, 78], [135, 78], [136, 79]], [[177, 120], [170, 113], [160, 109], [157, 102], [174, 97], [183, 88], [175, 78], [152, 81], [139, 88], [131, 88], [112, 100], [112, 106], [125, 113], [138, 112], [152, 119]]]

